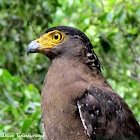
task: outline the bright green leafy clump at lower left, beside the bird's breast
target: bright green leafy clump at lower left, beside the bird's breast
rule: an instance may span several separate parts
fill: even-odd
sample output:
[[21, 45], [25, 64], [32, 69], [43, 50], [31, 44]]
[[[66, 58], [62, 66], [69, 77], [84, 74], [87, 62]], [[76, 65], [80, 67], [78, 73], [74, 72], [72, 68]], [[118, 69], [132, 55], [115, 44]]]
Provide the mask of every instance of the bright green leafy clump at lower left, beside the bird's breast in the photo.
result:
[[0, 69], [0, 77], [0, 134], [41, 134], [40, 95], [36, 87], [13, 77], [6, 69]]

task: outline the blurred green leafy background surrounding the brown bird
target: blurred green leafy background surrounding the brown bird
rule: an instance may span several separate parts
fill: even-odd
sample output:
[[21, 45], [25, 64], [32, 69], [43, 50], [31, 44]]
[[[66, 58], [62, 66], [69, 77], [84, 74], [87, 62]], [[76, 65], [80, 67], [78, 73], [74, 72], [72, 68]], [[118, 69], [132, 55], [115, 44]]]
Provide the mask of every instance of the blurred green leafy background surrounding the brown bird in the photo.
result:
[[58, 25], [85, 32], [102, 73], [140, 121], [139, 0], [0, 0], [0, 136], [42, 134], [40, 93], [50, 61], [28, 57], [26, 48]]

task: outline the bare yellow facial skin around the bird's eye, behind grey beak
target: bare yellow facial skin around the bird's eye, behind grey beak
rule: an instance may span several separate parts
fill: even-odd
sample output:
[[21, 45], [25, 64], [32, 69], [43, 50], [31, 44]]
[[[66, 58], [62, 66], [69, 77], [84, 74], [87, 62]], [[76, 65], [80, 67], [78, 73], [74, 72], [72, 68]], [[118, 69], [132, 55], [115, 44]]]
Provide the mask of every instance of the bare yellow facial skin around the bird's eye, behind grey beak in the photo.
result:
[[65, 35], [62, 32], [54, 30], [42, 35], [40, 38], [36, 39], [36, 42], [40, 46], [40, 49], [49, 49], [63, 41], [64, 38]]

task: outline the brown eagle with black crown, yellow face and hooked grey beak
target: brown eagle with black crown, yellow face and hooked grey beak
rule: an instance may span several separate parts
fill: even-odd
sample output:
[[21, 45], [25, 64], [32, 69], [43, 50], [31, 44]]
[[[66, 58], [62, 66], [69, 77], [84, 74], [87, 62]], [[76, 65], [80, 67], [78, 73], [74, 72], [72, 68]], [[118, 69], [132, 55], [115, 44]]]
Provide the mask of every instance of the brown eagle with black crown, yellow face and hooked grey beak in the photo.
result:
[[139, 140], [140, 126], [107, 83], [89, 38], [57, 26], [32, 41], [27, 53], [51, 60], [41, 93], [46, 140]]

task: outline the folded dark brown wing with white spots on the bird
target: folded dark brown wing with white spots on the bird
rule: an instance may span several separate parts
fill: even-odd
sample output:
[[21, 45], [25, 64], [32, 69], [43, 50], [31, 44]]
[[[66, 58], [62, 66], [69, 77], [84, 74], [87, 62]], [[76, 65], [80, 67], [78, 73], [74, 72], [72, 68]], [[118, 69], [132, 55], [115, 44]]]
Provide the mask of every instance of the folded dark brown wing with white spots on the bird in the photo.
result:
[[[123, 109], [124, 105], [121, 105], [119, 98], [121, 97], [91, 86], [83, 97], [77, 100], [82, 124], [91, 140], [116, 138], [138, 140], [139, 125], [126, 103], [129, 111]], [[137, 130], [134, 129], [136, 126]]]

